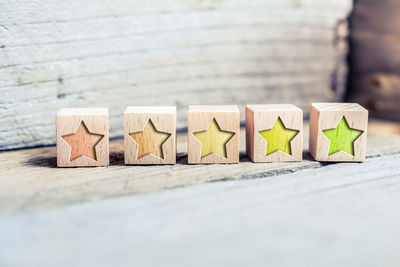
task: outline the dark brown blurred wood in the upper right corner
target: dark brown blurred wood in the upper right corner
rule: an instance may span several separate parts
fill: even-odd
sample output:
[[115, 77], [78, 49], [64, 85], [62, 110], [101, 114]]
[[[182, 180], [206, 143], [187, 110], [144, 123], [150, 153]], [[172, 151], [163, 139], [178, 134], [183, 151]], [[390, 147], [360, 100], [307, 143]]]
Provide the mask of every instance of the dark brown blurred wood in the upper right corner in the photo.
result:
[[393, 0], [357, 0], [350, 17], [349, 98], [373, 116], [400, 121], [400, 6]]

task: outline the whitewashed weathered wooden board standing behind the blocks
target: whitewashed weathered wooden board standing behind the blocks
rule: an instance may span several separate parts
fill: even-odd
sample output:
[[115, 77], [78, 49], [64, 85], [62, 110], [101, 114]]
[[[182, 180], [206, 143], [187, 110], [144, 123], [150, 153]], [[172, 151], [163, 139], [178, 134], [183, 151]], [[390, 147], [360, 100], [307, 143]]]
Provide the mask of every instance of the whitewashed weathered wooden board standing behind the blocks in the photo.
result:
[[[0, 150], [54, 144], [62, 107], [341, 98], [352, 0], [0, 0]], [[242, 111], [244, 107], [242, 107]], [[244, 116], [242, 117], [244, 120]]]

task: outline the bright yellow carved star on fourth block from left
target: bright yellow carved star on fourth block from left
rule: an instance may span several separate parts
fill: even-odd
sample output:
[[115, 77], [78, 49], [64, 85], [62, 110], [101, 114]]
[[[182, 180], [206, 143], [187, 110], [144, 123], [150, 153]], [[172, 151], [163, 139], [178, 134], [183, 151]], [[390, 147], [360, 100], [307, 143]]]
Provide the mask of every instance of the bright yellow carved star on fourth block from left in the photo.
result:
[[268, 142], [266, 155], [278, 150], [292, 155], [290, 142], [299, 133], [298, 130], [287, 129], [280, 117], [276, 120], [272, 129], [260, 131], [259, 134]]

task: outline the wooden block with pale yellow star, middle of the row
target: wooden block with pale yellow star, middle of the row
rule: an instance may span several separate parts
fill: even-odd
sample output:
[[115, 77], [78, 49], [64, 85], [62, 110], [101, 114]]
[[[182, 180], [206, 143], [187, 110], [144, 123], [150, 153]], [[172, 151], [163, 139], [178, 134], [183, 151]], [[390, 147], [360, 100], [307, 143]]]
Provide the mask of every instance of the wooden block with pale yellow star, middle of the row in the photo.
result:
[[237, 106], [189, 106], [188, 163], [239, 163]]

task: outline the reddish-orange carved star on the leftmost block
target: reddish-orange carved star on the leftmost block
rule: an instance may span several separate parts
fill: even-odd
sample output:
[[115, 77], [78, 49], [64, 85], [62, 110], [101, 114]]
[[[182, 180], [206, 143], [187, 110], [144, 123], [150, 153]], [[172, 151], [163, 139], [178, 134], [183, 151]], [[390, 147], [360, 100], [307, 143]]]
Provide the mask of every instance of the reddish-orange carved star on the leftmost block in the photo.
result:
[[83, 121], [79, 124], [75, 133], [62, 136], [71, 147], [70, 161], [83, 156], [97, 160], [96, 146], [103, 137], [102, 134], [89, 132]]

